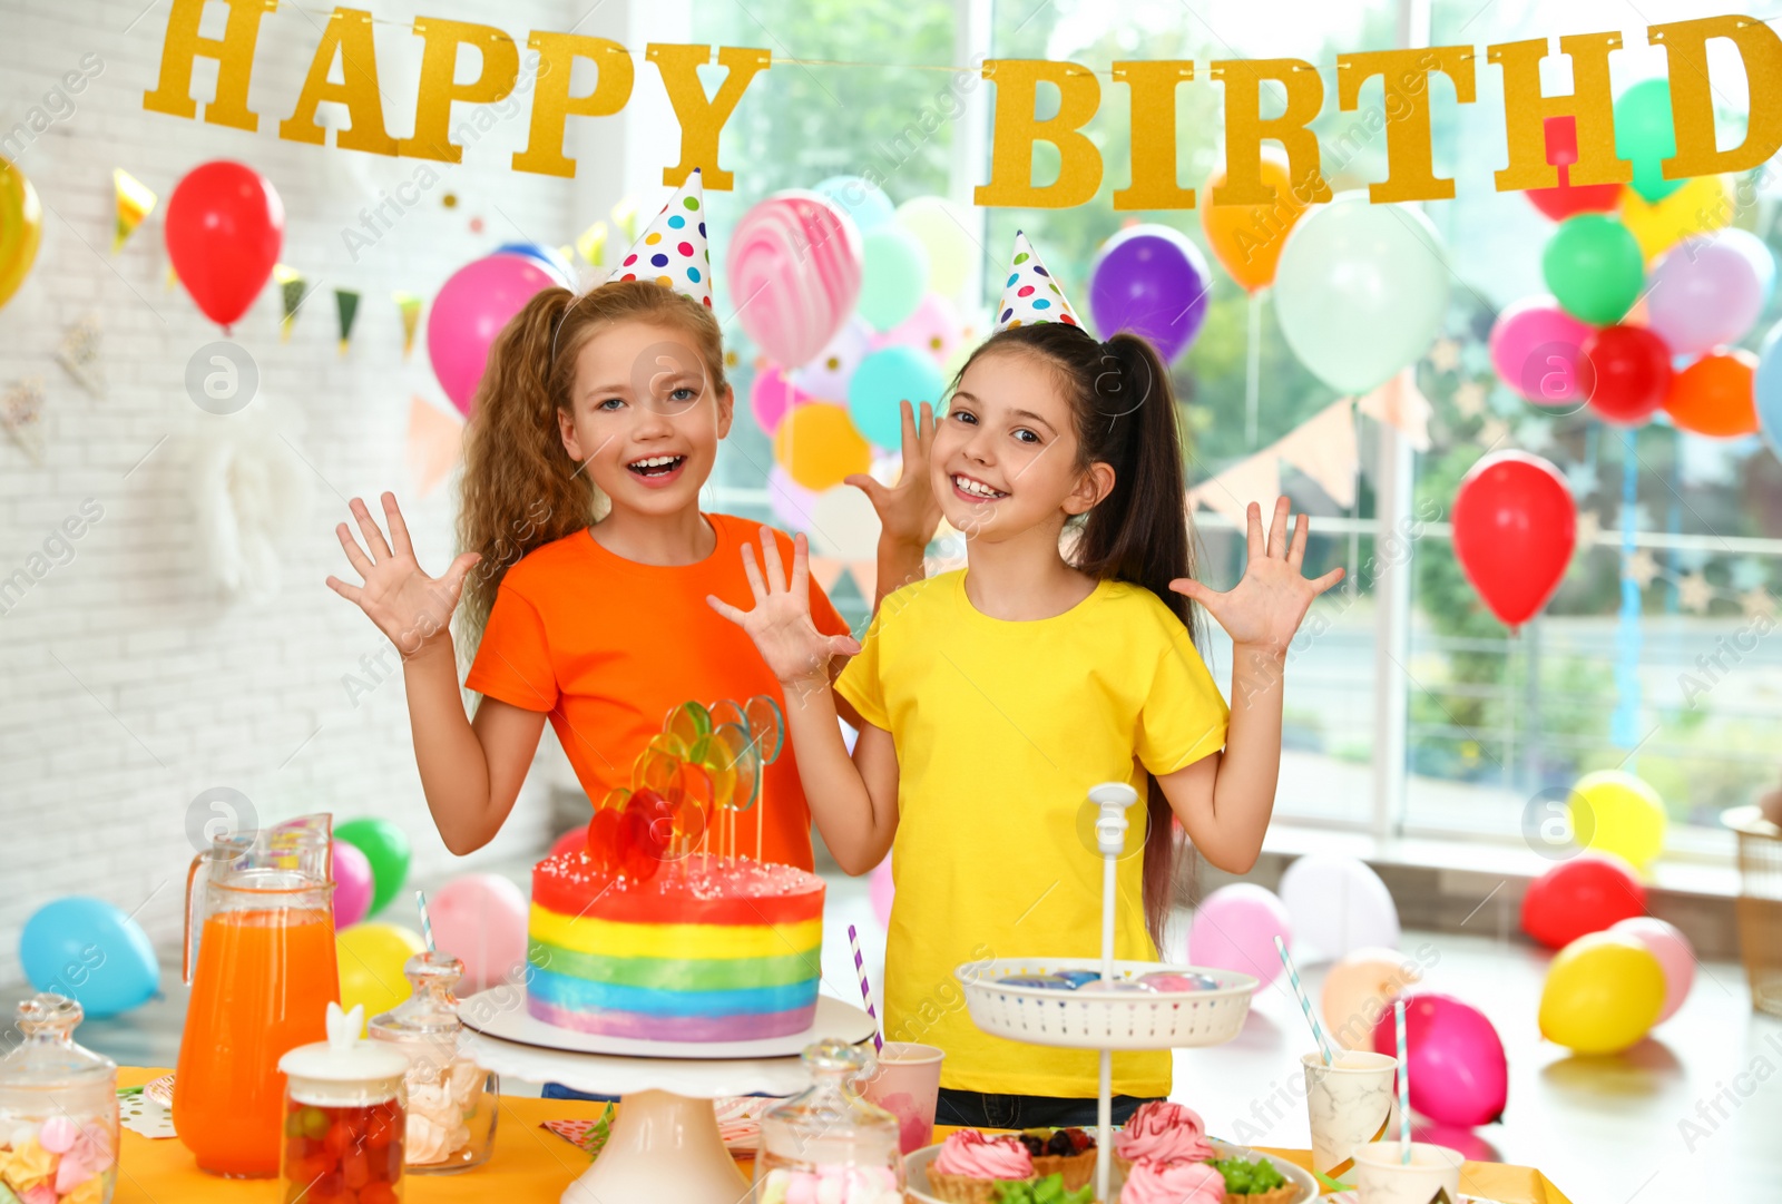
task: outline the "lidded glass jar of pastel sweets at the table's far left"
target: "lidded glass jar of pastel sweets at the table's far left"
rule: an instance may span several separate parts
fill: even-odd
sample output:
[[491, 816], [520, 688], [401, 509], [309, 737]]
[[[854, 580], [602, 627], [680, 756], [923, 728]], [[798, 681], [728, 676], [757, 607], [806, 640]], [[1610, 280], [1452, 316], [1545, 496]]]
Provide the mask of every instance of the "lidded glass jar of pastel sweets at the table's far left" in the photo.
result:
[[80, 1005], [18, 1005], [18, 1047], [0, 1060], [0, 1199], [109, 1204], [118, 1183], [118, 1063], [75, 1044]]

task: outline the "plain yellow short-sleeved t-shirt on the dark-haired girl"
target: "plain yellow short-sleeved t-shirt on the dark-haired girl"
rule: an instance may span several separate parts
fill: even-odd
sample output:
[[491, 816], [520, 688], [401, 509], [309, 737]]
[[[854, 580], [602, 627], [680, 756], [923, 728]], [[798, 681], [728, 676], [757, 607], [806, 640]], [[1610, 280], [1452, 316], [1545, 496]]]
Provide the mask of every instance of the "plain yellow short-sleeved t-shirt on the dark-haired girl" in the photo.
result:
[[[1094, 1095], [1094, 1053], [984, 1033], [953, 969], [1101, 956], [1089, 787], [1124, 780], [1142, 800], [1146, 769], [1173, 773], [1224, 746], [1230, 712], [1187, 629], [1149, 590], [1117, 581], [1053, 618], [989, 618], [960, 570], [887, 597], [838, 689], [896, 744], [886, 1037], [944, 1049], [944, 1086]], [[1144, 803], [1128, 818], [1137, 853]], [[1121, 958], [1157, 956], [1142, 860], [1119, 862]], [[1116, 1054], [1114, 1090], [1167, 1095], [1169, 1053]]]

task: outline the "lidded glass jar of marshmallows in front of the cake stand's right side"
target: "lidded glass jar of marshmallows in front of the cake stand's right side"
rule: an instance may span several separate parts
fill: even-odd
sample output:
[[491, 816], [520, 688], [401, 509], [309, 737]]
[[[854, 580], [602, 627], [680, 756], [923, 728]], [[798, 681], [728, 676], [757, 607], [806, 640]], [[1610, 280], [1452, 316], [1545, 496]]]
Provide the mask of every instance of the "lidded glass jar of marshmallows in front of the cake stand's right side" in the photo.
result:
[[868, 1104], [852, 1085], [868, 1062], [864, 1049], [839, 1040], [804, 1051], [811, 1088], [761, 1117], [757, 1204], [902, 1204], [896, 1117]]

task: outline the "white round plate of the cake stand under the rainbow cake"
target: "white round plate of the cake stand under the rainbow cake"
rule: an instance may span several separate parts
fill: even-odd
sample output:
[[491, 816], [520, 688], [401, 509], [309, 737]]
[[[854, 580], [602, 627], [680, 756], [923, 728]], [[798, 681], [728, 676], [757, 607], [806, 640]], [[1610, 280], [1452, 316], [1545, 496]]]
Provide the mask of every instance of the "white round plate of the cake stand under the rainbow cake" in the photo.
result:
[[709, 1042], [674, 1042], [674, 1040], [636, 1040], [631, 1037], [602, 1037], [599, 1033], [581, 1033], [577, 1029], [545, 1024], [526, 1010], [524, 1001], [513, 987], [492, 987], [463, 1001], [458, 1010], [463, 1026], [485, 1037], [499, 1037], [515, 1045], [533, 1045], [535, 1049], [556, 1049], [561, 1053], [608, 1054], [615, 1058], [670, 1058], [670, 1060], [738, 1060], [754, 1058], [793, 1058], [816, 1040], [834, 1038], [857, 1045], [871, 1040], [877, 1028], [873, 1017], [859, 1006], [816, 997], [816, 1019], [802, 1033], [786, 1037], [766, 1037], [761, 1040], [709, 1040]]

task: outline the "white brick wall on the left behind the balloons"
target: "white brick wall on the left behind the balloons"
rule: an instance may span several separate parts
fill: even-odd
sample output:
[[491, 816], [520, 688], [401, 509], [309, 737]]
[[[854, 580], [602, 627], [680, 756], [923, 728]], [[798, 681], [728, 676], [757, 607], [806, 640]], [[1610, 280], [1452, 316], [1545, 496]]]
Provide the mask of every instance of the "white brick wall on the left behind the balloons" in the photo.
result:
[[[0, 135], [29, 121], [84, 55], [103, 61], [71, 98], [73, 112], [18, 155], [46, 214], [37, 264], [0, 310], [0, 386], [43, 378], [48, 451], [37, 467], [0, 436], [0, 577], [41, 550], [84, 499], [105, 511], [73, 541], [73, 559], [0, 616], [0, 981], [18, 978], [25, 917], [69, 892], [134, 910], [157, 944], [176, 946], [192, 855], [185, 814], [212, 785], [244, 791], [262, 819], [310, 809], [390, 818], [413, 839], [421, 875], [451, 869], [421, 794], [399, 677], [358, 707], [340, 682], [380, 650], [381, 636], [323, 586], [330, 572], [346, 570], [331, 531], [346, 517], [346, 497], [394, 488], [422, 563], [444, 568], [453, 552], [451, 488], [417, 497], [405, 460], [410, 395], [444, 397], [424, 337], [403, 362], [390, 292], [431, 299], [456, 267], [501, 242], [568, 242], [620, 196], [661, 194], [659, 171], [675, 144], [663, 128], [659, 78], [642, 62], [625, 118], [572, 119], [570, 153], [581, 159], [574, 183], [508, 169], [526, 142], [529, 110], [520, 105], [465, 151], [463, 166], [435, 164], [440, 183], [355, 264], [342, 226], [356, 226], [360, 208], [376, 203], [380, 189], [412, 180], [417, 164], [278, 139], [324, 5], [299, 11], [287, 2], [266, 18], [249, 91], [257, 134], [143, 110], [168, 21], [166, 4], [144, 7], [0, 0]], [[531, 28], [576, 27], [636, 48], [649, 37], [686, 39], [684, 4], [633, 12], [609, 0], [592, 14], [581, 0], [510, 0], [499, 11], [469, 0], [367, 7], [392, 21], [376, 39], [385, 119], [397, 137], [413, 123], [421, 39], [406, 21], [417, 7], [494, 20], [522, 46], [522, 73]], [[221, 12], [212, 5], [207, 34]], [[214, 64], [201, 59], [192, 85], [200, 103], [214, 80]], [[458, 121], [465, 116], [460, 107]], [[187, 358], [219, 333], [184, 290], [164, 287], [160, 212], [121, 255], [109, 255], [112, 167], [139, 176], [164, 207], [178, 178], [210, 159], [239, 159], [274, 183], [287, 212], [282, 260], [319, 287], [290, 342], [278, 338], [273, 285], [237, 326], [237, 342], [260, 369], [260, 399], [237, 419], [207, 415], [185, 395]], [[444, 208], [446, 192], [460, 198], [454, 210]], [[481, 233], [470, 232], [472, 216], [483, 217]], [[362, 292], [346, 358], [335, 354], [335, 285]], [[103, 401], [53, 360], [64, 331], [89, 310], [105, 326]], [[273, 422], [314, 465], [312, 506], [285, 549], [283, 586], [257, 606], [230, 604], [203, 582], [185, 492], [194, 436], [249, 415]], [[549, 743], [542, 761], [554, 752]], [[544, 842], [545, 777], [535, 771], [485, 855], [526, 855]]]

